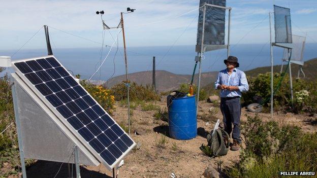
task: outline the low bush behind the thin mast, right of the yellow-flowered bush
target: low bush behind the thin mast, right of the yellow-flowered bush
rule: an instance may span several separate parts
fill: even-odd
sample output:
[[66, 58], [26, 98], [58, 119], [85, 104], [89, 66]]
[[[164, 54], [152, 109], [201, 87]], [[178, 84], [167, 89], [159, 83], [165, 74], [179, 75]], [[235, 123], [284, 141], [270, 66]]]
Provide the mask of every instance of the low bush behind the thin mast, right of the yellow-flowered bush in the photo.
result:
[[[123, 81], [126, 83], [125, 81]], [[122, 99], [126, 99], [128, 95], [128, 89], [123, 83], [116, 84], [111, 88], [114, 98], [116, 101], [120, 101]], [[129, 97], [131, 101], [137, 100], [145, 100], [145, 101], [152, 101], [152, 100], [160, 100], [160, 96], [157, 95], [150, 86], [142, 86], [138, 85], [135, 82], [130, 83], [130, 90], [129, 90]]]

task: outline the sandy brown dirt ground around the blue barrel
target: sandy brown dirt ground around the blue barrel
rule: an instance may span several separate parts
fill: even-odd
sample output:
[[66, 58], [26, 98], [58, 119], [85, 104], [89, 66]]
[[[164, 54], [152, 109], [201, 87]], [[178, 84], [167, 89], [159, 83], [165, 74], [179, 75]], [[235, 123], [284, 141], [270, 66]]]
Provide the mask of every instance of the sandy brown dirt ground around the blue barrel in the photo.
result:
[[[166, 107], [166, 102], [156, 101], [153, 103], [160, 105], [162, 109]], [[124, 165], [118, 169], [118, 177], [171, 177], [174, 173], [176, 177], [201, 177], [208, 166], [217, 169], [221, 163], [221, 168], [233, 165], [239, 160], [239, 151], [229, 151], [228, 155], [209, 158], [199, 147], [207, 144], [206, 135], [213, 128], [216, 119], [222, 120], [222, 115], [218, 106], [212, 110], [212, 118], [209, 109], [212, 103], [201, 102], [199, 115], [207, 117], [198, 119], [198, 136], [191, 140], [176, 140], [169, 137], [168, 123], [156, 120], [153, 116], [155, 111], [141, 111], [141, 106], [133, 110], [132, 115], [132, 138], [141, 145], [139, 149], [132, 150], [125, 158]], [[254, 116], [246, 109], [242, 109], [241, 121], [246, 121], [247, 116]], [[113, 118], [118, 123], [126, 124], [127, 109], [116, 103], [116, 111]], [[269, 120], [270, 114], [260, 113], [260, 118]], [[209, 120], [209, 121], [208, 121]], [[294, 124], [302, 127], [308, 132], [316, 131], [316, 123], [312, 117], [305, 115], [274, 114], [274, 120], [280, 124]], [[134, 134], [137, 130], [138, 134]], [[166, 148], [157, 148], [156, 144], [166, 135]], [[70, 177], [68, 164], [50, 161], [36, 161], [27, 168], [28, 177]], [[75, 169], [75, 167], [73, 167]], [[103, 165], [86, 166], [81, 165], [81, 177], [112, 177], [112, 171], [108, 171]], [[73, 171], [73, 175], [75, 171]], [[116, 171], [117, 173], [117, 171]], [[16, 177], [16, 176], [9, 176]], [[75, 177], [75, 175], [74, 175]]]

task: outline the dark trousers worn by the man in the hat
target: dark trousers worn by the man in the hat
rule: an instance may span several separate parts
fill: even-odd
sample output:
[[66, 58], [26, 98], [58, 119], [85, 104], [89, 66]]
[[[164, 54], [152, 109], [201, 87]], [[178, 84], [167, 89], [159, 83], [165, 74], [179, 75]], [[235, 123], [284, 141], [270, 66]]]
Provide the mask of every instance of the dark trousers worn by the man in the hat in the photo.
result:
[[[230, 135], [232, 131], [232, 138], [241, 143], [240, 138], [240, 115], [241, 104], [240, 98], [221, 98], [220, 110], [224, 116], [225, 131]], [[233, 124], [233, 130], [232, 130]]]

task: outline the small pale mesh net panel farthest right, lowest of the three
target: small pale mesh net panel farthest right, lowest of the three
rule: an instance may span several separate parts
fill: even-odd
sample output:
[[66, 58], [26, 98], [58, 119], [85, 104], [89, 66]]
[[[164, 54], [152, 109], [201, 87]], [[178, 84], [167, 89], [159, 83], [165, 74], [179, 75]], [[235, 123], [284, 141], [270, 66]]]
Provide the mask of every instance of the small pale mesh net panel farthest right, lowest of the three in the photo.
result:
[[[302, 62], [306, 37], [301, 37], [301, 36], [293, 34], [292, 39], [293, 39], [293, 48], [292, 48], [291, 62], [292, 61], [301, 61]], [[289, 60], [287, 49], [284, 49], [283, 60], [284, 61]]]

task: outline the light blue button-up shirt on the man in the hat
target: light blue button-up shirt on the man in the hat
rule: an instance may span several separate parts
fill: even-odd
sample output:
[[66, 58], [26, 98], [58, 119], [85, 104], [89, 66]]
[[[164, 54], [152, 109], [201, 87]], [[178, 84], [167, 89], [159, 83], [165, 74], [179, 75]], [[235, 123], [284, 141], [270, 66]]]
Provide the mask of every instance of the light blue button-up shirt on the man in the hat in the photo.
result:
[[217, 89], [218, 85], [238, 86], [239, 88], [239, 90], [232, 91], [221, 90], [220, 97], [241, 97], [241, 92], [249, 90], [249, 85], [247, 83], [244, 72], [236, 68], [233, 69], [231, 75], [228, 74], [227, 68], [221, 70], [215, 82], [215, 89]]

